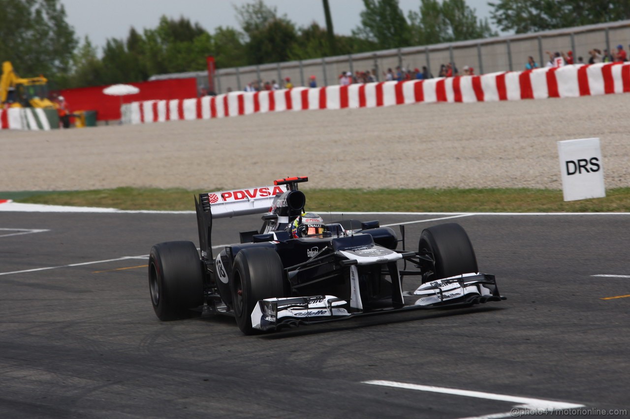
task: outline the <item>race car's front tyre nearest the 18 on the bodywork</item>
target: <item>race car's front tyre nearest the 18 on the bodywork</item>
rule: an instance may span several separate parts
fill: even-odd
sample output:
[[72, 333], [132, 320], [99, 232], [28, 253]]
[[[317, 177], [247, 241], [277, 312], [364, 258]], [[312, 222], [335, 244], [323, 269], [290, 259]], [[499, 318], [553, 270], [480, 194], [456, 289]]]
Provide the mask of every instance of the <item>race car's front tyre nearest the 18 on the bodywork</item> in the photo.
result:
[[251, 247], [238, 252], [232, 269], [232, 303], [241, 332], [251, 335], [251, 312], [258, 300], [285, 296], [282, 260], [268, 247]]

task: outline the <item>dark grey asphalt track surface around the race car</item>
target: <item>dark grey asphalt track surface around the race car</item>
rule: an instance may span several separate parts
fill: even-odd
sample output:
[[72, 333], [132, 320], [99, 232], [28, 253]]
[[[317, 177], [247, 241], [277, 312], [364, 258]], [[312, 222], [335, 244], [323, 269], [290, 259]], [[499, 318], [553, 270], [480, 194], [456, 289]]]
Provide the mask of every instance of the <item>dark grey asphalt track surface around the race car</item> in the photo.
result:
[[[161, 322], [153, 313], [146, 255], [158, 242], [197, 243], [195, 215], [2, 213], [0, 417], [630, 410], [630, 298], [602, 299], [630, 294], [630, 277], [593, 276], [630, 276], [630, 215], [352, 217], [421, 221], [406, 225], [408, 249], [422, 228], [460, 223], [507, 301], [246, 337], [232, 318]], [[213, 242], [235, 242], [239, 229], [259, 224], [218, 220]]]

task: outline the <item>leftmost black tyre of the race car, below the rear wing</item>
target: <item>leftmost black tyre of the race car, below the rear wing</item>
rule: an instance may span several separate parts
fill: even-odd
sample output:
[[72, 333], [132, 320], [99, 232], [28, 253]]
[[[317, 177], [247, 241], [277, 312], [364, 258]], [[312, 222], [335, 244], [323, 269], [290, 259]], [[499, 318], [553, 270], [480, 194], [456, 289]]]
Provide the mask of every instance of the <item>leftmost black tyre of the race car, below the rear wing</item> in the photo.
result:
[[203, 272], [192, 242], [166, 242], [149, 254], [149, 293], [157, 318], [188, 318], [203, 304]]

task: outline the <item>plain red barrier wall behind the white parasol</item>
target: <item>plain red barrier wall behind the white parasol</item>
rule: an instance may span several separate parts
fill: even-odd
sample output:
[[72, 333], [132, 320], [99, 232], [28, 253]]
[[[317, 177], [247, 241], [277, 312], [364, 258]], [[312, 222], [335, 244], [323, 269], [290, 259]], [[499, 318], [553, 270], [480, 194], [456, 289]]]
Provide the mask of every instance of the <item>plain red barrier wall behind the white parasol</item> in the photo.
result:
[[[129, 84], [138, 87], [140, 92], [123, 96], [123, 103], [197, 97], [197, 80], [194, 77]], [[120, 96], [104, 94], [103, 89], [108, 86], [66, 89], [59, 94], [64, 96], [71, 111], [96, 111], [99, 121], [120, 120]]]

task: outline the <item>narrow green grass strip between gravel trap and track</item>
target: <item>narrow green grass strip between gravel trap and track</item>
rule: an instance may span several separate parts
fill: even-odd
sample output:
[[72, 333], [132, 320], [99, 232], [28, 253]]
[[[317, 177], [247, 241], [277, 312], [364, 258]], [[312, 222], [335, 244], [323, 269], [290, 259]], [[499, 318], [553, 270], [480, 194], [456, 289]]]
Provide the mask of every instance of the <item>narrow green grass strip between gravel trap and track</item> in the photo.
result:
[[[94, 191], [0, 192], [20, 203], [96, 206], [120, 210], [193, 211], [204, 191], [117, 187]], [[564, 202], [553, 189], [302, 189], [309, 211], [413, 212], [630, 212], [630, 187], [606, 198]]]

